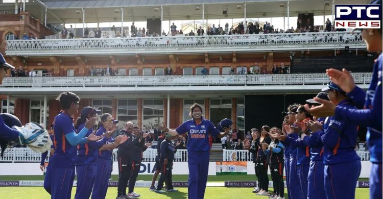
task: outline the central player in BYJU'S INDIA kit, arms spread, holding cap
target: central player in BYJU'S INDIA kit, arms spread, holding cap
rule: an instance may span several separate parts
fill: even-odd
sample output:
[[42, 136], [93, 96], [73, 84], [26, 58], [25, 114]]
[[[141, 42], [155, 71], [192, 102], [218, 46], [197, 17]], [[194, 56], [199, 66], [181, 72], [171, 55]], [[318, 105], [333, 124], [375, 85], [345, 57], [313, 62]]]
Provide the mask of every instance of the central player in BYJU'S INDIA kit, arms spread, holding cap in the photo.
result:
[[[221, 133], [214, 127], [211, 121], [202, 117], [202, 107], [194, 104], [189, 109], [189, 115], [192, 119], [182, 123], [176, 129], [169, 129], [163, 124], [162, 130], [165, 130], [172, 136], [187, 133], [187, 159], [189, 166], [189, 179], [187, 194], [190, 199], [202, 199], [205, 195], [207, 173], [209, 170], [209, 136], [222, 138], [230, 131], [228, 123], [231, 127], [231, 121], [221, 121], [221, 126], [225, 133]], [[219, 126], [219, 125], [218, 125]]]

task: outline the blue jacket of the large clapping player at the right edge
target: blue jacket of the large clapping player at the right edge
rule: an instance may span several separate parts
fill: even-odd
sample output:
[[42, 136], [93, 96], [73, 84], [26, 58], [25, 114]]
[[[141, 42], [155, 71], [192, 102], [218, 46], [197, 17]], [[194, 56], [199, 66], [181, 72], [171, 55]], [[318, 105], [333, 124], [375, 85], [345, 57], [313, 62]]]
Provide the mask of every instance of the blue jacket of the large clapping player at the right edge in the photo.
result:
[[[347, 123], [367, 127], [367, 145], [371, 154], [370, 161], [382, 162], [382, 54], [376, 60], [372, 80], [367, 92], [355, 87], [347, 95], [358, 109], [337, 106], [335, 118]], [[365, 97], [364, 97], [365, 96]], [[362, 110], [362, 108], [364, 108]]]

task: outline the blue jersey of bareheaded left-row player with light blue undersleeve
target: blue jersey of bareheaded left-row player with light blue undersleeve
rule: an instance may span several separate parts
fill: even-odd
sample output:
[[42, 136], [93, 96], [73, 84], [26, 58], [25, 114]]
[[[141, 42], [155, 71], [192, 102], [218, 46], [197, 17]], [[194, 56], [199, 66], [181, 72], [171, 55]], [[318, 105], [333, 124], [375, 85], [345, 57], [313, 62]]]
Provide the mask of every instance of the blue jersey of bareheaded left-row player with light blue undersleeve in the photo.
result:
[[74, 161], [77, 156], [77, 146], [70, 145], [65, 138], [66, 134], [76, 132], [73, 117], [64, 111], [60, 111], [53, 121], [53, 130], [53, 145], [55, 148], [54, 165], [58, 167], [74, 167]]

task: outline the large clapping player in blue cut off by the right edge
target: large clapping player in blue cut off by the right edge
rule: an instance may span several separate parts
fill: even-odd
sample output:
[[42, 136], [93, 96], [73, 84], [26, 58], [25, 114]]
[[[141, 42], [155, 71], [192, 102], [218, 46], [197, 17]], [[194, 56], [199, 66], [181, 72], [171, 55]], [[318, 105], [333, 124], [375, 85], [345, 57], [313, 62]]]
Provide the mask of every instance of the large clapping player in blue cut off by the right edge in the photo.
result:
[[[371, 4], [381, 5], [381, 3], [381, 0], [377, 0], [372, 1]], [[381, 19], [380, 24], [382, 24]], [[371, 84], [367, 92], [355, 85], [351, 74], [346, 69], [343, 71], [328, 69], [326, 71], [330, 80], [345, 91], [347, 96], [351, 97], [357, 109], [336, 106], [318, 98], [315, 100], [320, 102], [321, 106], [311, 108], [306, 106], [305, 108], [318, 117], [333, 115], [337, 120], [367, 127], [366, 139], [372, 162], [370, 198], [382, 198], [382, 28], [363, 29], [362, 38], [366, 42], [367, 51], [380, 53], [374, 63]]]

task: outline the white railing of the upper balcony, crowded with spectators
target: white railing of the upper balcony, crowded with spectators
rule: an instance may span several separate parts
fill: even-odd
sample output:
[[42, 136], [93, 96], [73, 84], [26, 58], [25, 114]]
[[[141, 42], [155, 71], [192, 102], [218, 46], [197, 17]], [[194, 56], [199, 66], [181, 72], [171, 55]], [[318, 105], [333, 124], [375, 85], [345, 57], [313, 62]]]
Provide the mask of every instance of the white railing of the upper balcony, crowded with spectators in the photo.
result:
[[289, 51], [365, 47], [361, 32], [8, 40], [10, 56]]

